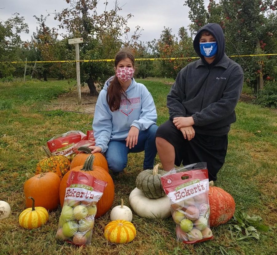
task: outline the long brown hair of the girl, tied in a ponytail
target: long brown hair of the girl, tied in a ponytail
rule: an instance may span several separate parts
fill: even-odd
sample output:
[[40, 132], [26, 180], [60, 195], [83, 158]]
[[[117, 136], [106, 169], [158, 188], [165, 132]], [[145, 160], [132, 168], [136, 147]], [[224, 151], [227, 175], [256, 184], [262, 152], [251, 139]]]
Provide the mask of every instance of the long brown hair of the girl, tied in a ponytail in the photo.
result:
[[[132, 61], [133, 68], [134, 68], [134, 55], [128, 49], [122, 49], [116, 54], [114, 59], [115, 68], [117, 67], [118, 63], [121, 60], [124, 60], [126, 58], [129, 58]], [[120, 83], [116, 75], [114, 75], [114, 78], [111, 80], [107, 91], [108, 91], [107, 102], [111, 111], [116, 111], [119, 109], [122, 95], [125, 99], [129, 101], [129, 99], [127, 98], [126, 92], [120, 86]]]

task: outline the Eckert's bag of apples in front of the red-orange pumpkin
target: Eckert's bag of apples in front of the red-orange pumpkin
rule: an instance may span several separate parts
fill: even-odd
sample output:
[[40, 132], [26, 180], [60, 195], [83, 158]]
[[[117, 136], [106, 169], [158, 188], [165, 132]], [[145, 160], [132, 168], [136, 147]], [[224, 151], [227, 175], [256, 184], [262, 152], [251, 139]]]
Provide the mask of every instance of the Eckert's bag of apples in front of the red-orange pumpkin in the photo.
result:
[[177, 241], [190, 244], [212, 239], [207, 164], [174, 168], [161, 177], [161, 182], [170, 198]]

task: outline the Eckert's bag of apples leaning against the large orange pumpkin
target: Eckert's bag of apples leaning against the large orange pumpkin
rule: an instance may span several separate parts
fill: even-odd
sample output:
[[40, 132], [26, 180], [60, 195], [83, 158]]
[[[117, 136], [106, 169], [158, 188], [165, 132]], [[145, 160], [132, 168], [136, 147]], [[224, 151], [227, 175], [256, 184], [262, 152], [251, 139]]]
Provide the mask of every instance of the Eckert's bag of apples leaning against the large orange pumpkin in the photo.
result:
[[81, 246], [91, 241], [96, 203], [107, 183], [84, 172], [71, 171], [66, 183], [66, 194], [56, 237]]

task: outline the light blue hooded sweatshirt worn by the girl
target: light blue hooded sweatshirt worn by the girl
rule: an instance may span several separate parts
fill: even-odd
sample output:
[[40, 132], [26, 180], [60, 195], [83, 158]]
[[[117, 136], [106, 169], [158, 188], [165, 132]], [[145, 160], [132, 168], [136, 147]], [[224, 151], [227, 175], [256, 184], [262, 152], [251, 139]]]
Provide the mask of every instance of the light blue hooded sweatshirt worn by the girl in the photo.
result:
[[134, 78], [125, 91], [131, 104], [125, 98], [121, 99], [120, 108], [112, 112], [106, 96], [113, 78], [114, 76], [106, 81], [99, 93], [92, 123], [95, 146], [99, 146], [102, 153], [108, 149], [110, 140], [124, 141], [131, 126], [146, 130], [157, 121], [156, 107], [150, 92]]

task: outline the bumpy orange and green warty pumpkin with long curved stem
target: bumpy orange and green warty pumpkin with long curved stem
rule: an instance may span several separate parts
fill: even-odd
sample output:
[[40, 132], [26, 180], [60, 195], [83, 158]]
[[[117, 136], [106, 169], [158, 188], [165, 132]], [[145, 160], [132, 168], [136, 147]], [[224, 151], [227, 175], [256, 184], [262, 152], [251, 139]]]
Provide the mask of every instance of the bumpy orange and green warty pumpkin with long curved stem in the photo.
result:
[[62, 177], [69, 171], [70, 160], [62, 155], [53, 156], [49, 149], [45, 146], [42, 146], [48, 158], [43, 159], [38, 162], [36, 167], [36, 174], [53, 172], [59, 176], [62, 180]]

